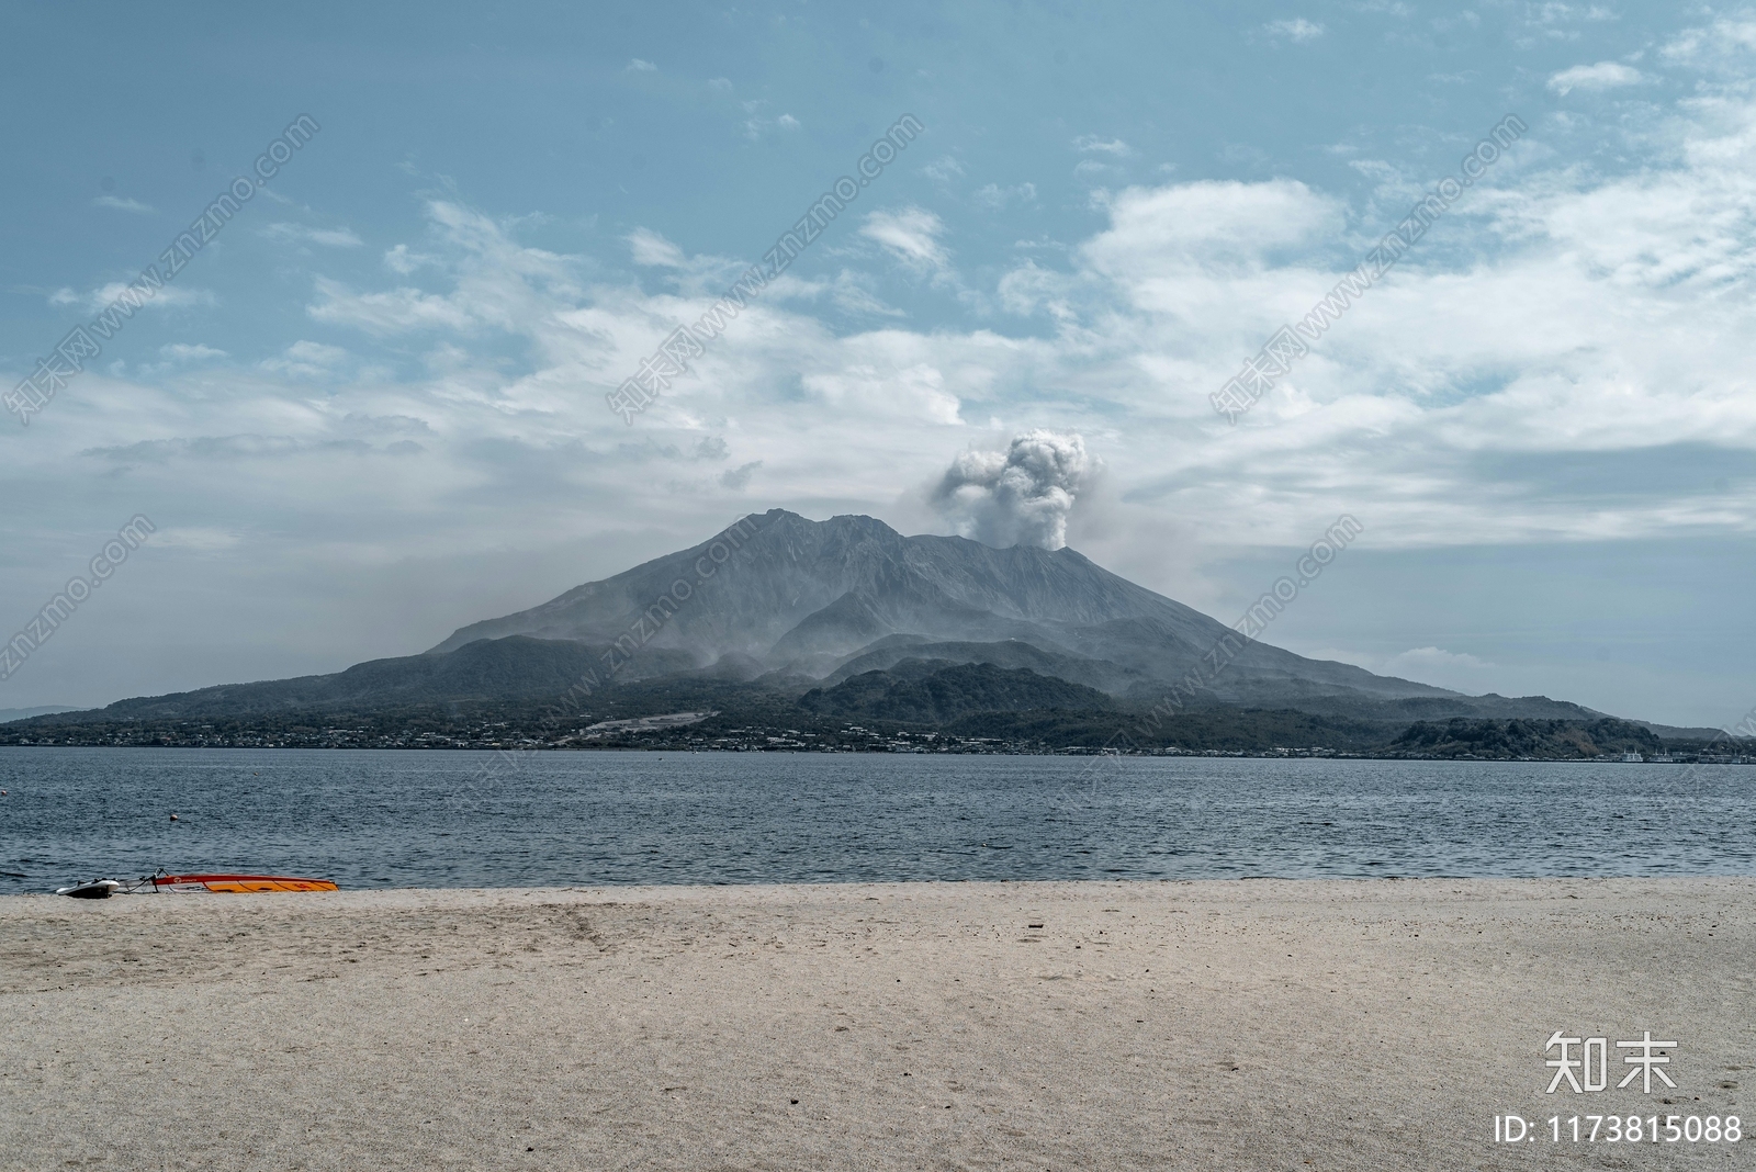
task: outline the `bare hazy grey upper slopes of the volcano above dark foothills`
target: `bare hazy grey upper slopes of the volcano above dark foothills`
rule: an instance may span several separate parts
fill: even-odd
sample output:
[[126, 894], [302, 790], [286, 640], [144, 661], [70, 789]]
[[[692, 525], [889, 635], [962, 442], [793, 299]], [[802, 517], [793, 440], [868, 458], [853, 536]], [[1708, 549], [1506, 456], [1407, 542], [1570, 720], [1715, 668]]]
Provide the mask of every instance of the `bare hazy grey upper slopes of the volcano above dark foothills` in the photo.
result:
[[[687, 602], [666, 607], [664, 625], [648, 635], [650, 646], [683, 651], [702, 667], [739, 654], [822, 677], [876, 640], [911, 635], [1015, 640], [1050, 656], [1105, 661], [1092, 668], [1092, 679], [1138, 675], [1168, 684], [1198, 668], [1229, 635], [1222, 623], [1073, 549], [994, 549], [962, 537], [903, 537], [873, 518], [810, 521], [773, 509], [715, 540], [578, 586], [530, 611], [472, 623], [434, 653], [506, 635], [608, 644], [639, 630], [641, 616], [676, 581], [695, 582], [702, 568], [711, 575]], [[1287, 702], [1457, 693], [1250, 642], [1215, 695]]]

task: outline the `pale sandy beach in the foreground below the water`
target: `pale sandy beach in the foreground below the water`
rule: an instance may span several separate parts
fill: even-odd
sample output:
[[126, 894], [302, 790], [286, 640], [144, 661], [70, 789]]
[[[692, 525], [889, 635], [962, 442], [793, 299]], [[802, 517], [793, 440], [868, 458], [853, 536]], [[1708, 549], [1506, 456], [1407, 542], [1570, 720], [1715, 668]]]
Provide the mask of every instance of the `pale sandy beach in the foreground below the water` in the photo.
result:
[[[5, 1168], [1731, 1167], [1756, 881], [0, 900]], [[1554, 1030], [1677, 1090], [1545, 1095]], [[1542, 1142], [1496, 1144], [1494, 1116]], [[1756, 1116], [1756, 1111], [1749, 1112]], [[1751, 1119], [1756, 1125], [1756, 1118]]]

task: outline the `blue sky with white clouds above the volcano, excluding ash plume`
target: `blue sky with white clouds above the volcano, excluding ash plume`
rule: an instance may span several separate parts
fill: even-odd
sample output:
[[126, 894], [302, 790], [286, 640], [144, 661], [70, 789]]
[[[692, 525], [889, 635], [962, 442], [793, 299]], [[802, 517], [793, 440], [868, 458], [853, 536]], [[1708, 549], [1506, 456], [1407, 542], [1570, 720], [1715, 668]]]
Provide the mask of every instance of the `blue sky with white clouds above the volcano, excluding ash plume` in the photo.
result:
[[[857, 11], [9, 5], [7, 388], [320, 130], [28, 426], [0, 416], [7, 633], [158, 528], [0, 707], [407, 654], [776, 505], [1064, 530], [1226, 621], [1352, 514], [1264, 639], [1672, 723], [1756, 704], [1756, 12]], [[616, 416], [904, 114], [922, 133]], [[1508, 114], [1400, 263], [1217, 414]], [[1076, 456], [1071, 509], [996, 528], [968, 498], [1031, 433]]]

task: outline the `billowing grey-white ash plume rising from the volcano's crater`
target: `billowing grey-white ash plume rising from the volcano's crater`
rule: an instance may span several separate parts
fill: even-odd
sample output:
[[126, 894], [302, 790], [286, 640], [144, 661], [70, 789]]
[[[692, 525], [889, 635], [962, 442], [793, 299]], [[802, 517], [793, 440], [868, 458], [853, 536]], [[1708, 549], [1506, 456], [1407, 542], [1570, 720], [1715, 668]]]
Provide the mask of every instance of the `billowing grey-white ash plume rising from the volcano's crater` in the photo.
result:
[[932, 504], [964, 537], [983, 546], [1068, 544], [1068, 512], [1090, 468], [1076, 432], [1038, 428], [1006, 451], [966, 451], [932, 493]]

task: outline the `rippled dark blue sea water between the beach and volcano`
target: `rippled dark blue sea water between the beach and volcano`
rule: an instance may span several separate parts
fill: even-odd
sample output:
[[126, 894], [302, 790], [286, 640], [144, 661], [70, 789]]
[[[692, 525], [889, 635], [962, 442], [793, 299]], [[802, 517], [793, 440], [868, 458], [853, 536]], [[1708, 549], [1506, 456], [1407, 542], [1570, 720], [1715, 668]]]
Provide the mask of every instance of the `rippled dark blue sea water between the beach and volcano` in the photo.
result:
[[11, 747], [0, 790], [0, 893], [1756, 874], [1737, 765]]

